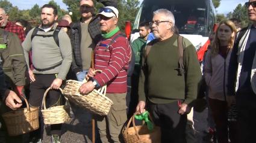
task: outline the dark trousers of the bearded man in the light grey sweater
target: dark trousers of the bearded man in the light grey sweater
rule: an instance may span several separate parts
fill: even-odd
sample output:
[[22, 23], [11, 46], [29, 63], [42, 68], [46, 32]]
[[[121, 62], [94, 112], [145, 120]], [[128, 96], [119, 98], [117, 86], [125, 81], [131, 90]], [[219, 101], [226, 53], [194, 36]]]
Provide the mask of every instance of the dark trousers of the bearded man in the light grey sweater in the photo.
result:
[[[36, 81], [30, 84], [30, 99], [28, 102], [32, 107], [42, 107], [43, 94], [48, 87], [51, 86], [52, 81], [56, 78], [55, 74], [35, 74]], [[63, 104], [63, 98], [61, 98], [61, 93], [59, 90], [49, 90], [48, 95], [46, 96], [46, 108], [53, 107], [55, 105]], [[39, 111], [39, 121], [40, 127], [38, 130], [31, 132], [31, 136], [40, 136], [43, 135], [43, 118], [42, 112]], [[61, 124], [52, 124], [51, 125], [51, 135], [61, 135]]]

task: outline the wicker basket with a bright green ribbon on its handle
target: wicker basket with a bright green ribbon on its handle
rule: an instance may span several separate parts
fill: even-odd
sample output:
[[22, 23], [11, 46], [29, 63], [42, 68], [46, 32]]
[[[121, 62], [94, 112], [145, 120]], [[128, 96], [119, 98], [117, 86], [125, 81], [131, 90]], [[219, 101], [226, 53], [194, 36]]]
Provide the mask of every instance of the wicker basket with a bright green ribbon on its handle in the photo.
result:
[[[158, 126], [154, 126], [152, 131], [148, 130], [146, 124], [142, 126], [135, 125], [134, 116], [140, 114], [135, 112], [133, 117], [128, 121], [127, 126], [123, 129], [123, 139], [126, 143], [160, 143], [161, 142], [161, 129]], [[151, 116], [149, 118], [152, 121]], [[133, 120], [133, 127], [130, 127], [131, 121]]]

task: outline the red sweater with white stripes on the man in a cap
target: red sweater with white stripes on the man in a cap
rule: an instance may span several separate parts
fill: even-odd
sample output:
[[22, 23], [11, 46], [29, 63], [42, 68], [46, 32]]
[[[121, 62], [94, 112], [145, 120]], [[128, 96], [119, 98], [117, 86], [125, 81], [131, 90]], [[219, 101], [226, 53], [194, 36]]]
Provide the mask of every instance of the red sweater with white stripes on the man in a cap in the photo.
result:
[[131, 47], [123, 36], [117, 38], [112, 45], [106, 48], [112, 38], [102, 39], [96, 45], [95, 69], [101, 69], [101, 74], [95, 75], [100, 86], [107, 84], [107, 93], [125, 93], [127, 91], [127, 69], [131, 56]]

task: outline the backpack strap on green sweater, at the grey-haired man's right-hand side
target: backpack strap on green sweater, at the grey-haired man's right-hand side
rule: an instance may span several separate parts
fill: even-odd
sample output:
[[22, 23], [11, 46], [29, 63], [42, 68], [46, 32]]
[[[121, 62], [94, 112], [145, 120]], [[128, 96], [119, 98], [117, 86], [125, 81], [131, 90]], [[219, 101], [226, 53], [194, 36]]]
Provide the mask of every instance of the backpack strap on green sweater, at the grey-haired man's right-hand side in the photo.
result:
[[178, 75], [183, 75], [185, 73], [184, 63], [183, 63], [183, 36], [178, 36], [178, 49], [179, 49], [179, 67], [178, 67]]

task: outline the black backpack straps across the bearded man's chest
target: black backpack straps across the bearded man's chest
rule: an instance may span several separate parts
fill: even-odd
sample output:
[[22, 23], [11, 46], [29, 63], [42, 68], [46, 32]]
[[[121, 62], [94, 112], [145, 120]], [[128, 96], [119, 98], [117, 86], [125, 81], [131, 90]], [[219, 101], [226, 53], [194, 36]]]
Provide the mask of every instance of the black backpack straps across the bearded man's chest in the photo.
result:
[[34, 29], [32, 35], [31, 35], [31, 41], [34, 38], [34, 36], [42, 36], [43, 38], [53, 36], [55, 43], [58, 45], [58, 47], [60, 47], [60, 42], [58, 41], [58, 32], [60, 32], [61, 28], [59, 26], [57, 26], [57, 28], [55, 28], [54, 33], [52, 35], [39, 35], [39, 34], [37, 34], [37, 32], [40, 30], [41, 29], [39, 28], [39, 26], [37, 26]]

